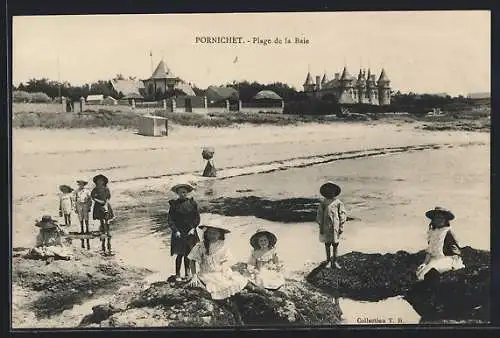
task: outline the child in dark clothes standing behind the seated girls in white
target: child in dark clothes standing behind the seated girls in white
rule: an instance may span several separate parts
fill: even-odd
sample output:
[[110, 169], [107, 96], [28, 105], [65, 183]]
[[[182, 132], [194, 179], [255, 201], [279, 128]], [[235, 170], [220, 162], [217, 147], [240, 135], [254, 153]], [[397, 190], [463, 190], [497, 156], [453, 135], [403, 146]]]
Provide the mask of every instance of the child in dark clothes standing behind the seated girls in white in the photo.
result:
[[191, 264], [188, 254], [200, 241], [196, 227], [200, 224], [200, 213], [198, 204], [188, 194], [194, 190], [190, 184], [176, 184], [171, 191], [178, 195], [177, 199], [170, 200], [168, 211], [169, 225], [172, 229], [170, 238], [170, 254], [177, 255], [175, 258], [175, 278], [181, 281], [181, 265], [184, 259], [185, 278], [191, 278]]

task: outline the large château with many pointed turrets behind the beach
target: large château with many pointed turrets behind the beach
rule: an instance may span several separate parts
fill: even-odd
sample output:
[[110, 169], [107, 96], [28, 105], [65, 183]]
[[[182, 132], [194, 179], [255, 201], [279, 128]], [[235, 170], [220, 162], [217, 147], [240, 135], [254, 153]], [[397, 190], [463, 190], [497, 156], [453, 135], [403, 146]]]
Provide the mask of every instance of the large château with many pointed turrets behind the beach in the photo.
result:
[[323, 79], [316, 76], [316, 83], [313, 82], [311, 73], [307, 73], [304, 82], [304, 92], [310, 97], [327, 99], [334, 97], [341, 104], [371, 104], [386, 106], [391, 104], [390, 81], [382, 69], [378, 80], [376, 75], [364, 69], [359, 70], [358, 77], [352, 76], [344, 67], [342, 75], [335, 73], [335, 77], [329, 80], [326, 73]]

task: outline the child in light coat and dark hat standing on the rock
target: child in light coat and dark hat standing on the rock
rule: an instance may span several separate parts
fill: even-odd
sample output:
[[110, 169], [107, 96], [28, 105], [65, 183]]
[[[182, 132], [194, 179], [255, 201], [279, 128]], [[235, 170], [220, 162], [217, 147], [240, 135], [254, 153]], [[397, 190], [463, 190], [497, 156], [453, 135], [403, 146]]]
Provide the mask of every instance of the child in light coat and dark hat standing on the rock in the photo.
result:
[[[325, 243], [326, 263], [330, 262], [332, 268], [340, 269], [337, 262], [340, 235], [347, 220], [344, 203], [337, 196], [341, 189], [332, 182], [326, 182], [319, 189], [324, 200], [320, 203], [316, 215], [319, 224], [319, 240]], [[330, 247], [333, 247], [333, 256]]]

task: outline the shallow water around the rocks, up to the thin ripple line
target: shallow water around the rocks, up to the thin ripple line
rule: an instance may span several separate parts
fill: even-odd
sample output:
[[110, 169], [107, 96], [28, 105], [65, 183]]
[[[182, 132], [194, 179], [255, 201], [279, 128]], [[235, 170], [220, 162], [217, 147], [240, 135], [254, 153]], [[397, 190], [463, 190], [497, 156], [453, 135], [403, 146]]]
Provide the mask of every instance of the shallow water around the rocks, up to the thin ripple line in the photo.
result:
[[[210, 199], [256, 196], [268, 200], [316, 200], [320, 198], [317, 191], [321, 183], [333, 180], [342, 187], [340, 199], [349, 215], [357, 218], [345, 226], [339, 247], [341, 255], [351, 251], [385, 253], [424, 249], [428, 225], [424, 213], [436, 205], [455, 213], [452, 226], [461, 246], [490, 250], [489, 156], [489, 147], [469, 146], [348, 159], [203, 182], [195, 198], [206, 199], [208, 192]], [[155, 212], [158, 210], [152, 208], [146, 214]], [[238, 211], [235, 212], [237, 215]], [[249, 238], [262, 227], [277, 235], [277, 249], [289, 278], [302, 278], [324, 259], [324, 247], [318, 241], [313, 222], [285, 223], [252, 215], [225, 217], [210, 213], [202, 214], [201, 218], [202, 223], [223, 218], [231, 230], [227, 242], [234, 263], [248, 259]], [[158, 220], [150, 215], [128, 223], [126, 231], [117, 232], [113, 239], [116, 259], [156, 271], [148, 276], [148, 282], [165, 280], [173, 274], [169, 235], [158, 231]], [[153, 228], [156, 230], [152, 231]], [[98, 303], [102, 302], [101, 299]], [[345, 324], [416, 324], [420, 320], [400, 297], [380, 302], [341, 298], [339, 303]], [[83, 313], [87, 314], [93, 305], [94, 301], [90, 301], [73, 311], [87, 311]]]

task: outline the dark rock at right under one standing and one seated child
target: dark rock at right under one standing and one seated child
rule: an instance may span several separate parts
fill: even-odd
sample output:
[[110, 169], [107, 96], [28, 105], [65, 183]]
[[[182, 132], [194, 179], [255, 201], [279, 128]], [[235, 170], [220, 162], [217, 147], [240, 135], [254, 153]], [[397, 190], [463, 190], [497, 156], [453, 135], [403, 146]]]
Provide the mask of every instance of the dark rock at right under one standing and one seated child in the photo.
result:
[[341, 270], [319, 266], [306, 279], [330, 294], [355, 300], [403, 295], [423, 321], [490, 320], [489, 252], [462, 248], [466, 268], [419, 282], [415, 271], [424, 257], [424, 251], [384, 255], [351, 252], [339, 257]]

